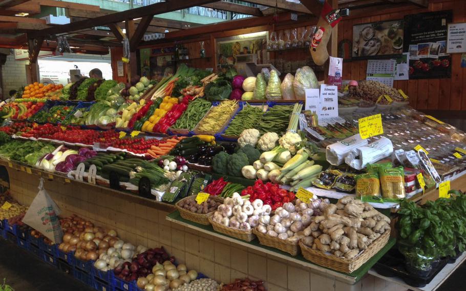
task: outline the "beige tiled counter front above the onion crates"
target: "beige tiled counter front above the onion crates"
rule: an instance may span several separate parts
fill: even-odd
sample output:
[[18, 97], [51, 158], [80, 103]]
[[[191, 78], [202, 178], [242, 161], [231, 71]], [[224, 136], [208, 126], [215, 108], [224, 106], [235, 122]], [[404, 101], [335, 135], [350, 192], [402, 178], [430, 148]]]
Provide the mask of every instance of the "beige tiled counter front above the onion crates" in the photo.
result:
[[[11, 195], [30, 205], [37, 194], [38, 177], [8, 169]], [[45, 188], [60, 207], [71, 214], [113, 228], [125, 241], [149, 247], [163, 245], [178, 262], [221, 282], [235, 278], [263, 279], [269, 291], [400, 291], [404, 288], [367, 275], [354, 285], [315, 270], [252, 251], [236, 243], [191, 230], [165, 219], [167, 212], [126, 201], [114, 192], [82, 183], [45, 181]]]

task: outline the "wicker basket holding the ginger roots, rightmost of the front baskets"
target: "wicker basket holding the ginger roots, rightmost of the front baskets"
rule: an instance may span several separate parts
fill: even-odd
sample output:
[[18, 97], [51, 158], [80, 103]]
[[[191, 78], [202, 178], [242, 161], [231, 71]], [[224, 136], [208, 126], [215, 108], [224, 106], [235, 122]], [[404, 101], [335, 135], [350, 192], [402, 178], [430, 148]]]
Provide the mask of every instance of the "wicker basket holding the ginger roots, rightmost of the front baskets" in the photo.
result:
[[390, 232], [385, 232], [383, 235], [373, 241], [362, 254], [359, 254], [356, 258], [351, 260], [337, 257], [331, 254], [326, 254], [319, 250], [312, 250], [312, 248], [305, 245], [301, 241], [299, 242], [299, 245], [301, 247], [301, 253], [303, 253], [303, 257], [306, 260], [324, 267], [334, 269], [335, 271], [349, 274], [361, 267], [376, 253], [382, 250], [382, 248], [387, 244], [389, 238]]

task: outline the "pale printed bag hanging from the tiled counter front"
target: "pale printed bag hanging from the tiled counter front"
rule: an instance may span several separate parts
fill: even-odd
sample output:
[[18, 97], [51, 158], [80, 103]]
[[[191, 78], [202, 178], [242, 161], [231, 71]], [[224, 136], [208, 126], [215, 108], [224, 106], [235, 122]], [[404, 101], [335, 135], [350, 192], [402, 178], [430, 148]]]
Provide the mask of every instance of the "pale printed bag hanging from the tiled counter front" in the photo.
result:
[[44, 179], [40, 178], [39, 192], [29, 206], [23, 222], [39, 231], [54, 243], [61, 243], [63, 231], [61, 230], [58, 215], [60, 209], [44, 189]]

